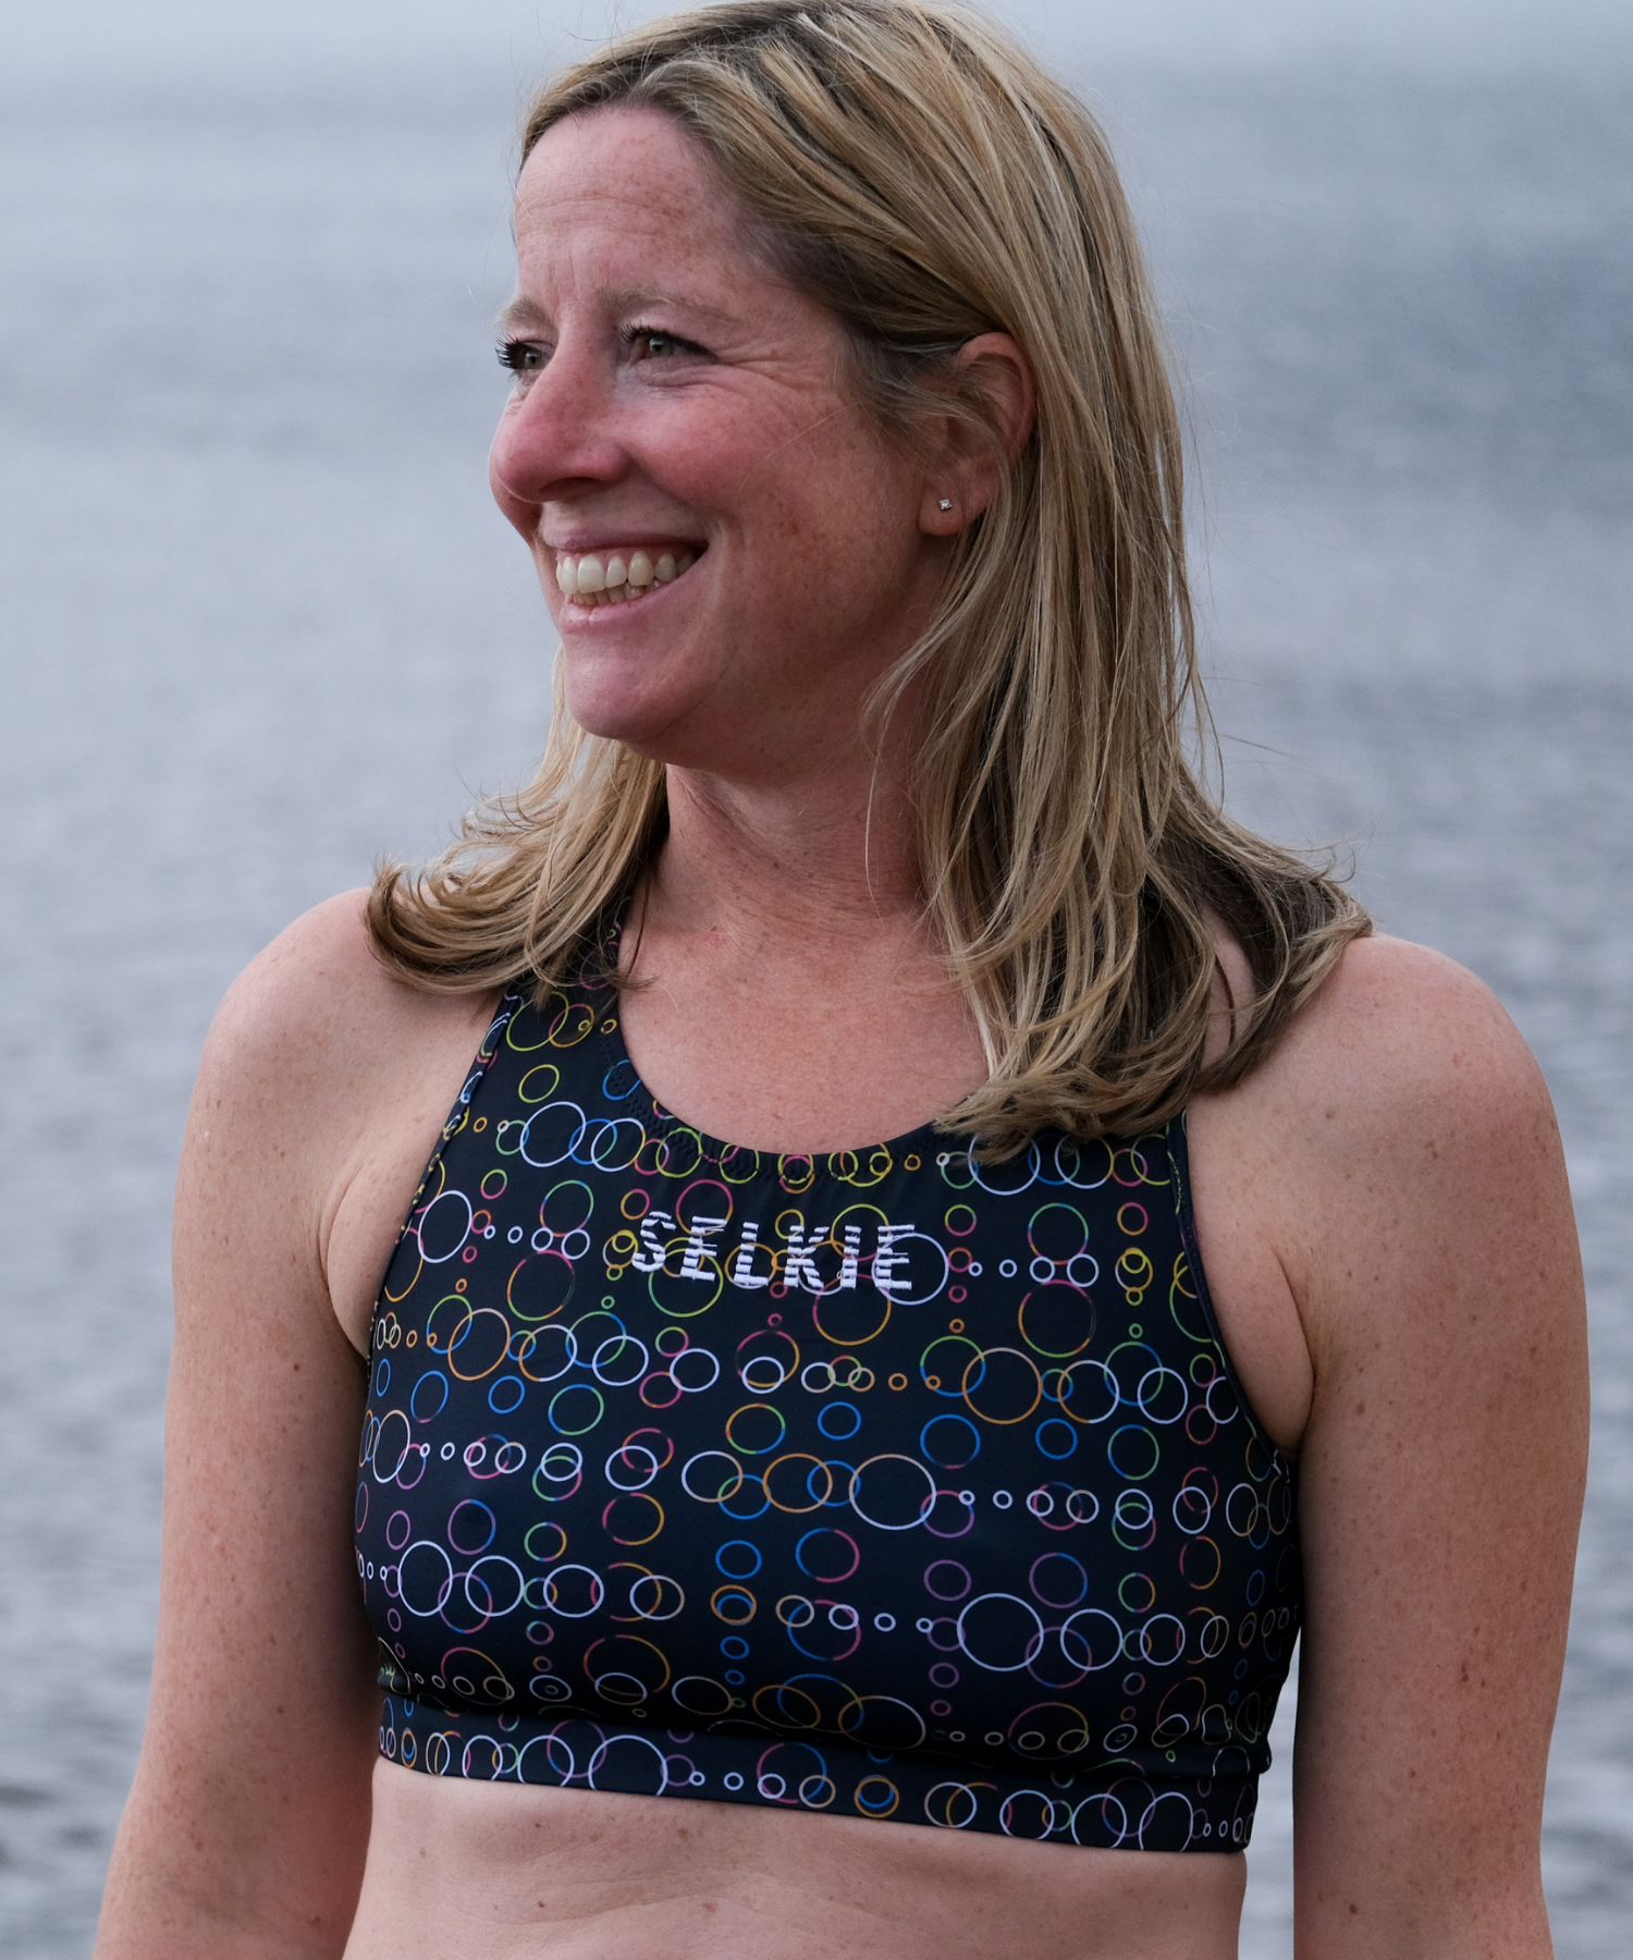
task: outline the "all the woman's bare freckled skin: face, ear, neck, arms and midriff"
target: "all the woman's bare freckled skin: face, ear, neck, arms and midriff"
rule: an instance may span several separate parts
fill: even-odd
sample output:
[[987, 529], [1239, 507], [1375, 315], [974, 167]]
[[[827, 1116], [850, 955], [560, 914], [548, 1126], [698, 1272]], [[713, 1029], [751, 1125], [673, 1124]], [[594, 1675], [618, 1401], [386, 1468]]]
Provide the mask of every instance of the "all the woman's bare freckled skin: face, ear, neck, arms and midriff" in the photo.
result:
[[[861, 702], [994, 478], [953, 429], [912, 466], [882, 443], [835, 382], [833, 321], [737, 237], [661, 118], [598, 112], [539, 145], [510, 331], [547, 359], [506, 410], [494, 488], [572, 711], [668, 768], [653, 984], [625, 996], [643, 1080], [714, 1135], [831, 1151], [980, 1080], [919, 919], [912, 715], [874, 759]], [[635, 359], [629, 325], [702, 353]], [[1017, 447], [1025, 363], [1004, 335], [966, 353]], [[572, 617], [555, 547], [643, 537], [706, 549], [659, 598]], [[1239, 1856], [378, 1760], [359, 1354], [490, 1007], [390, 982], [351, 894], [212, 1029], [176, 1201], [151, 1719], [98, 1960], [1231, 1960]], [[1192, 1107], [1190, 1156], [1225, 1341], [1300, 1456], [1300, 1960], [1545, 1960], [1586, 1376], [1535, 1066], [1451, 962], [1364, 941], [1262, 1068]]]

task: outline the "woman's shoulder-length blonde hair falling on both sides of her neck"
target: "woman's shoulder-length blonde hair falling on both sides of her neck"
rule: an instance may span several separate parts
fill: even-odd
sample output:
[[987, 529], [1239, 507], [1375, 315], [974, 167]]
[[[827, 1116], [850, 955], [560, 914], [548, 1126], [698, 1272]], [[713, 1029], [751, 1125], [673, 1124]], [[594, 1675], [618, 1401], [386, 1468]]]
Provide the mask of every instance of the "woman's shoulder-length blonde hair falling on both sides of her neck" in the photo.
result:
[[[1239, 1080], [1370, 931], [1329, 876], [1241, 829], [1188, 747], [1208, 735], [1184, 563], [1180, 427], [1106, 139], [986, 16], [925, 0], [735, 0], [637, 27], [557, 74], [523, 159], [606, 104], [672, 116], [751, 245], [849, 329], [855, 386], [906, 433], [953, 359], [1010, 333], [1037, 423], [959, 545], [933, 623], [882, 682], [921, 690], [912, 804], [923, 906], [990, 1074], [943, 1121], [994, 1152], [1166, 1121]], [[988, 431], [996, 441], [996, 433]], [[627, 904], [665, 833], [665, 770], [590, 737], [557, 690], [535, 780], [369, 906], [421, 988], [535, 974]], [[1253, 1002], [1204, 1062], [1213, 931]]]

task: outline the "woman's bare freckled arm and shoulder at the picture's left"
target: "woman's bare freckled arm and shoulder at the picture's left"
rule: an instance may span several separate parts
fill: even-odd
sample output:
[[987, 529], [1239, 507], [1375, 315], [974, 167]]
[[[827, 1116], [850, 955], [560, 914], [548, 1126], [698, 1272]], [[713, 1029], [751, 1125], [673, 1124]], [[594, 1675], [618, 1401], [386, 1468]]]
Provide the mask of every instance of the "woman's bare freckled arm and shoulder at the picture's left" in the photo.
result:
[[480, 1037], [455, 1011], [425, 1068], [449, 1007], [384, 978], [347, 898], [269, 949], [210, 1033], [176, 1194], [153, 1699], [98, 1960], [345, 1946], [378, 1693], [351, 1544], [367, 1364], [337, 1309], [367, 1331]]

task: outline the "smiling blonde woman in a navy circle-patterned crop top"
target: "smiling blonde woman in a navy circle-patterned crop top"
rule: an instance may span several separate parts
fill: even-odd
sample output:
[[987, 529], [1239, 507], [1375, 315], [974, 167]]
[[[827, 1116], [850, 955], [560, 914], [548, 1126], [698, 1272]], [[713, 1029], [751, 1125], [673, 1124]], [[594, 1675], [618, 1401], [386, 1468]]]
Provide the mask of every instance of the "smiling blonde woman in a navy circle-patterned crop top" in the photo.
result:
[[1545, 1954], [1559, 1141], [1188, 768], [1094, 125], [751, 0], [549, 84], [516, 239], [553, 745], [212, 1033], [98, 1950], [1227, 1956], [1302, 1617], [1300, 1950]]

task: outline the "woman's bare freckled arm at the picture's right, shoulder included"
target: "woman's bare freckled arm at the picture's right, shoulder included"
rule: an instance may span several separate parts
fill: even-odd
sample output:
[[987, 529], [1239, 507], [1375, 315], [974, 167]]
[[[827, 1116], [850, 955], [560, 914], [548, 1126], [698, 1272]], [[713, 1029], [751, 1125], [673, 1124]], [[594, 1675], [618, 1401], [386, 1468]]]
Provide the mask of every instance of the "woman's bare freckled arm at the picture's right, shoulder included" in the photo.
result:
[[1586, 1462], [1547, 1090], [1449, 960], [1359, 945], [1292, 1043], [1306, 1960], [1539, 1960], [1537, 1833]]

